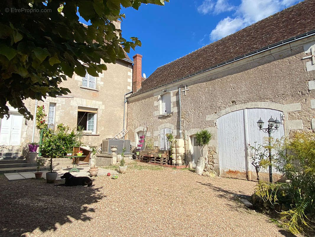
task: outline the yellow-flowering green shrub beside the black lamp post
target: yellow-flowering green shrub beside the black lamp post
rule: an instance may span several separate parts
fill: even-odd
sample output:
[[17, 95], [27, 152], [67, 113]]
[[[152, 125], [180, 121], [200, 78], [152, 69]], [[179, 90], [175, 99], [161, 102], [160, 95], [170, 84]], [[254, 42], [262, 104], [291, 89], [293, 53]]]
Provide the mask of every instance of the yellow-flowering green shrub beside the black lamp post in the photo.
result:
[[296, 132], [274, 147], [278, 148], [278, 162], [273, 165], [289, 181], [277, 184], [260, 181], [255, 193], [272, 204], [286, 204], [289, 210], [282, 210], [282, 219], [289, 231], [297, 234], [303, 231], [302, 227], [309, 227], [306, 214], [315, 211], [315, 133]]

